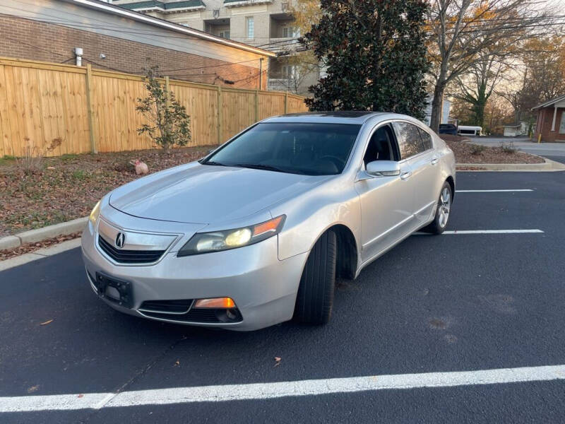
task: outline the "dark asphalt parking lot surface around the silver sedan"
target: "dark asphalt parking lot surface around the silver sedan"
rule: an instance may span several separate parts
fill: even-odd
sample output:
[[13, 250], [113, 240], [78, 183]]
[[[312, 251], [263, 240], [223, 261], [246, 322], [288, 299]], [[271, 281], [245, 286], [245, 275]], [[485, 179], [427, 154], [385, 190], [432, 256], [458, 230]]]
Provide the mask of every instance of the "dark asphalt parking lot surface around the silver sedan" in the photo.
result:
[[565, 172], [458, 172], [457, 189], [452, 233], [340, 281], [323, 327], [119, 314], [79, 249], [1, 271], [0, 423], [562, 422]]

